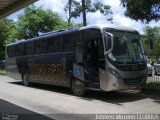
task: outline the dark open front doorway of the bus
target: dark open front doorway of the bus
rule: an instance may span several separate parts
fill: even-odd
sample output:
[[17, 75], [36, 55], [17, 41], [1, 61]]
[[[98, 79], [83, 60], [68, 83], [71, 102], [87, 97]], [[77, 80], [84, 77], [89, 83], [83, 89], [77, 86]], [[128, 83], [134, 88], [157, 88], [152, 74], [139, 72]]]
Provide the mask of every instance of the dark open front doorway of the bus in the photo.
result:
[[89, 40], [86, 46], [85, 55], [85, 79], [90, 87], [99, 83], [99, 45], [97, 40]]

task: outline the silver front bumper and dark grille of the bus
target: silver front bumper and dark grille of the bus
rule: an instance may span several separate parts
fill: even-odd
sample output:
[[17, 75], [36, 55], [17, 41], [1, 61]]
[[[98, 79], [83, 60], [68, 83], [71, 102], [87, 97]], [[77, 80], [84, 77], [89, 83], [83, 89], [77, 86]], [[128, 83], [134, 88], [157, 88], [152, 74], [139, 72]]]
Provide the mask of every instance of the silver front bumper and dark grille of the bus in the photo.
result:
[[119, 72], [121, 78], [117, 78], [110, 72], [101, 70], [100, 89], [103, 91], [119, 91], [139, 88], [146, 83], [147, 71]]

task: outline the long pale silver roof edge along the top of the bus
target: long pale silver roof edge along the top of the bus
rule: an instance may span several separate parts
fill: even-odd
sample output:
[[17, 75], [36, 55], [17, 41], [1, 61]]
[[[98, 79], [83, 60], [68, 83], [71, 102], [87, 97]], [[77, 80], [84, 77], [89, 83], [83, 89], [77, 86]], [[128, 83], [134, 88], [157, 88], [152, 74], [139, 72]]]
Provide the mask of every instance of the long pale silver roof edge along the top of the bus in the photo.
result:
[[58, 30], [58, 31], [51, 31], [51, 32], [44, 33], [44, 34], [40, 35], [39, 37], [30, 38], [30, 39], [26, 39], [26, 40], [25, 39], [18, 40], [17, 42], [10, 43], [7, 46], [16, 45], [16, 44], [20, 44], [20, 43], [27, 43], [32, 40], [34, 41], [34, 40], [39, 40], [39, 39], [45, 39], [48, 37], [64, 35], [64, 34], [73, 33], [73, 32], [81, 31], [81, 30], [87, 30], [87, 29], [100, 29], [100, 30], [102, 30], [103, 28], [137, 32], [135, 29], [127, 28], [127, 27], [123, 27], [123, 26], [115, 26], [115, 25], [107, 26], [105, 24], [96, 24], [96, 25], [89, 25], [89, 26], [85, 26], [85, 27], [81, 27], [81, 28], [70, 28], [70, 29], [62, 29], [62, 30]]

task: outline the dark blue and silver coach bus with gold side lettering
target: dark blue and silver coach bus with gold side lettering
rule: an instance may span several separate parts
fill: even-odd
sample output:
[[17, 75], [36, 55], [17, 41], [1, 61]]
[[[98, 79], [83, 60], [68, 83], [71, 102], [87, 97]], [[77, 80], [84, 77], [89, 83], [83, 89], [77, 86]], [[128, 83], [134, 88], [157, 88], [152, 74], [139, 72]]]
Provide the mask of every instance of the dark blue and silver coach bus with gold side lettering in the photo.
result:
[[65, 86], [77, 96], [141, 87], [147, 62], [140, 38], [134, 29], [105, 25], [45, 33], [8, 44], [6, 72], [24, 86]]

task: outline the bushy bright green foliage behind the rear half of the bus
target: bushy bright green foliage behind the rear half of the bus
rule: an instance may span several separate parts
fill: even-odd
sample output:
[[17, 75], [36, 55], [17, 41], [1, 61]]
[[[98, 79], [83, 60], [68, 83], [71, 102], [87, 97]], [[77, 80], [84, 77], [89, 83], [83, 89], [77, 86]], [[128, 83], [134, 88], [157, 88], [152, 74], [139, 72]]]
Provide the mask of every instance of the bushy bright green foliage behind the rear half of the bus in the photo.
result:
[[4, 59], [5, 45], [20, 39], [37, 37], [53, 30], [78, 27], [81, 24], [67, 23], [57, 13], [44, 10], [42, 7], [30, 6], [24, 14], [14, 22], [9, 19], [0, 20], [0, 59]]

